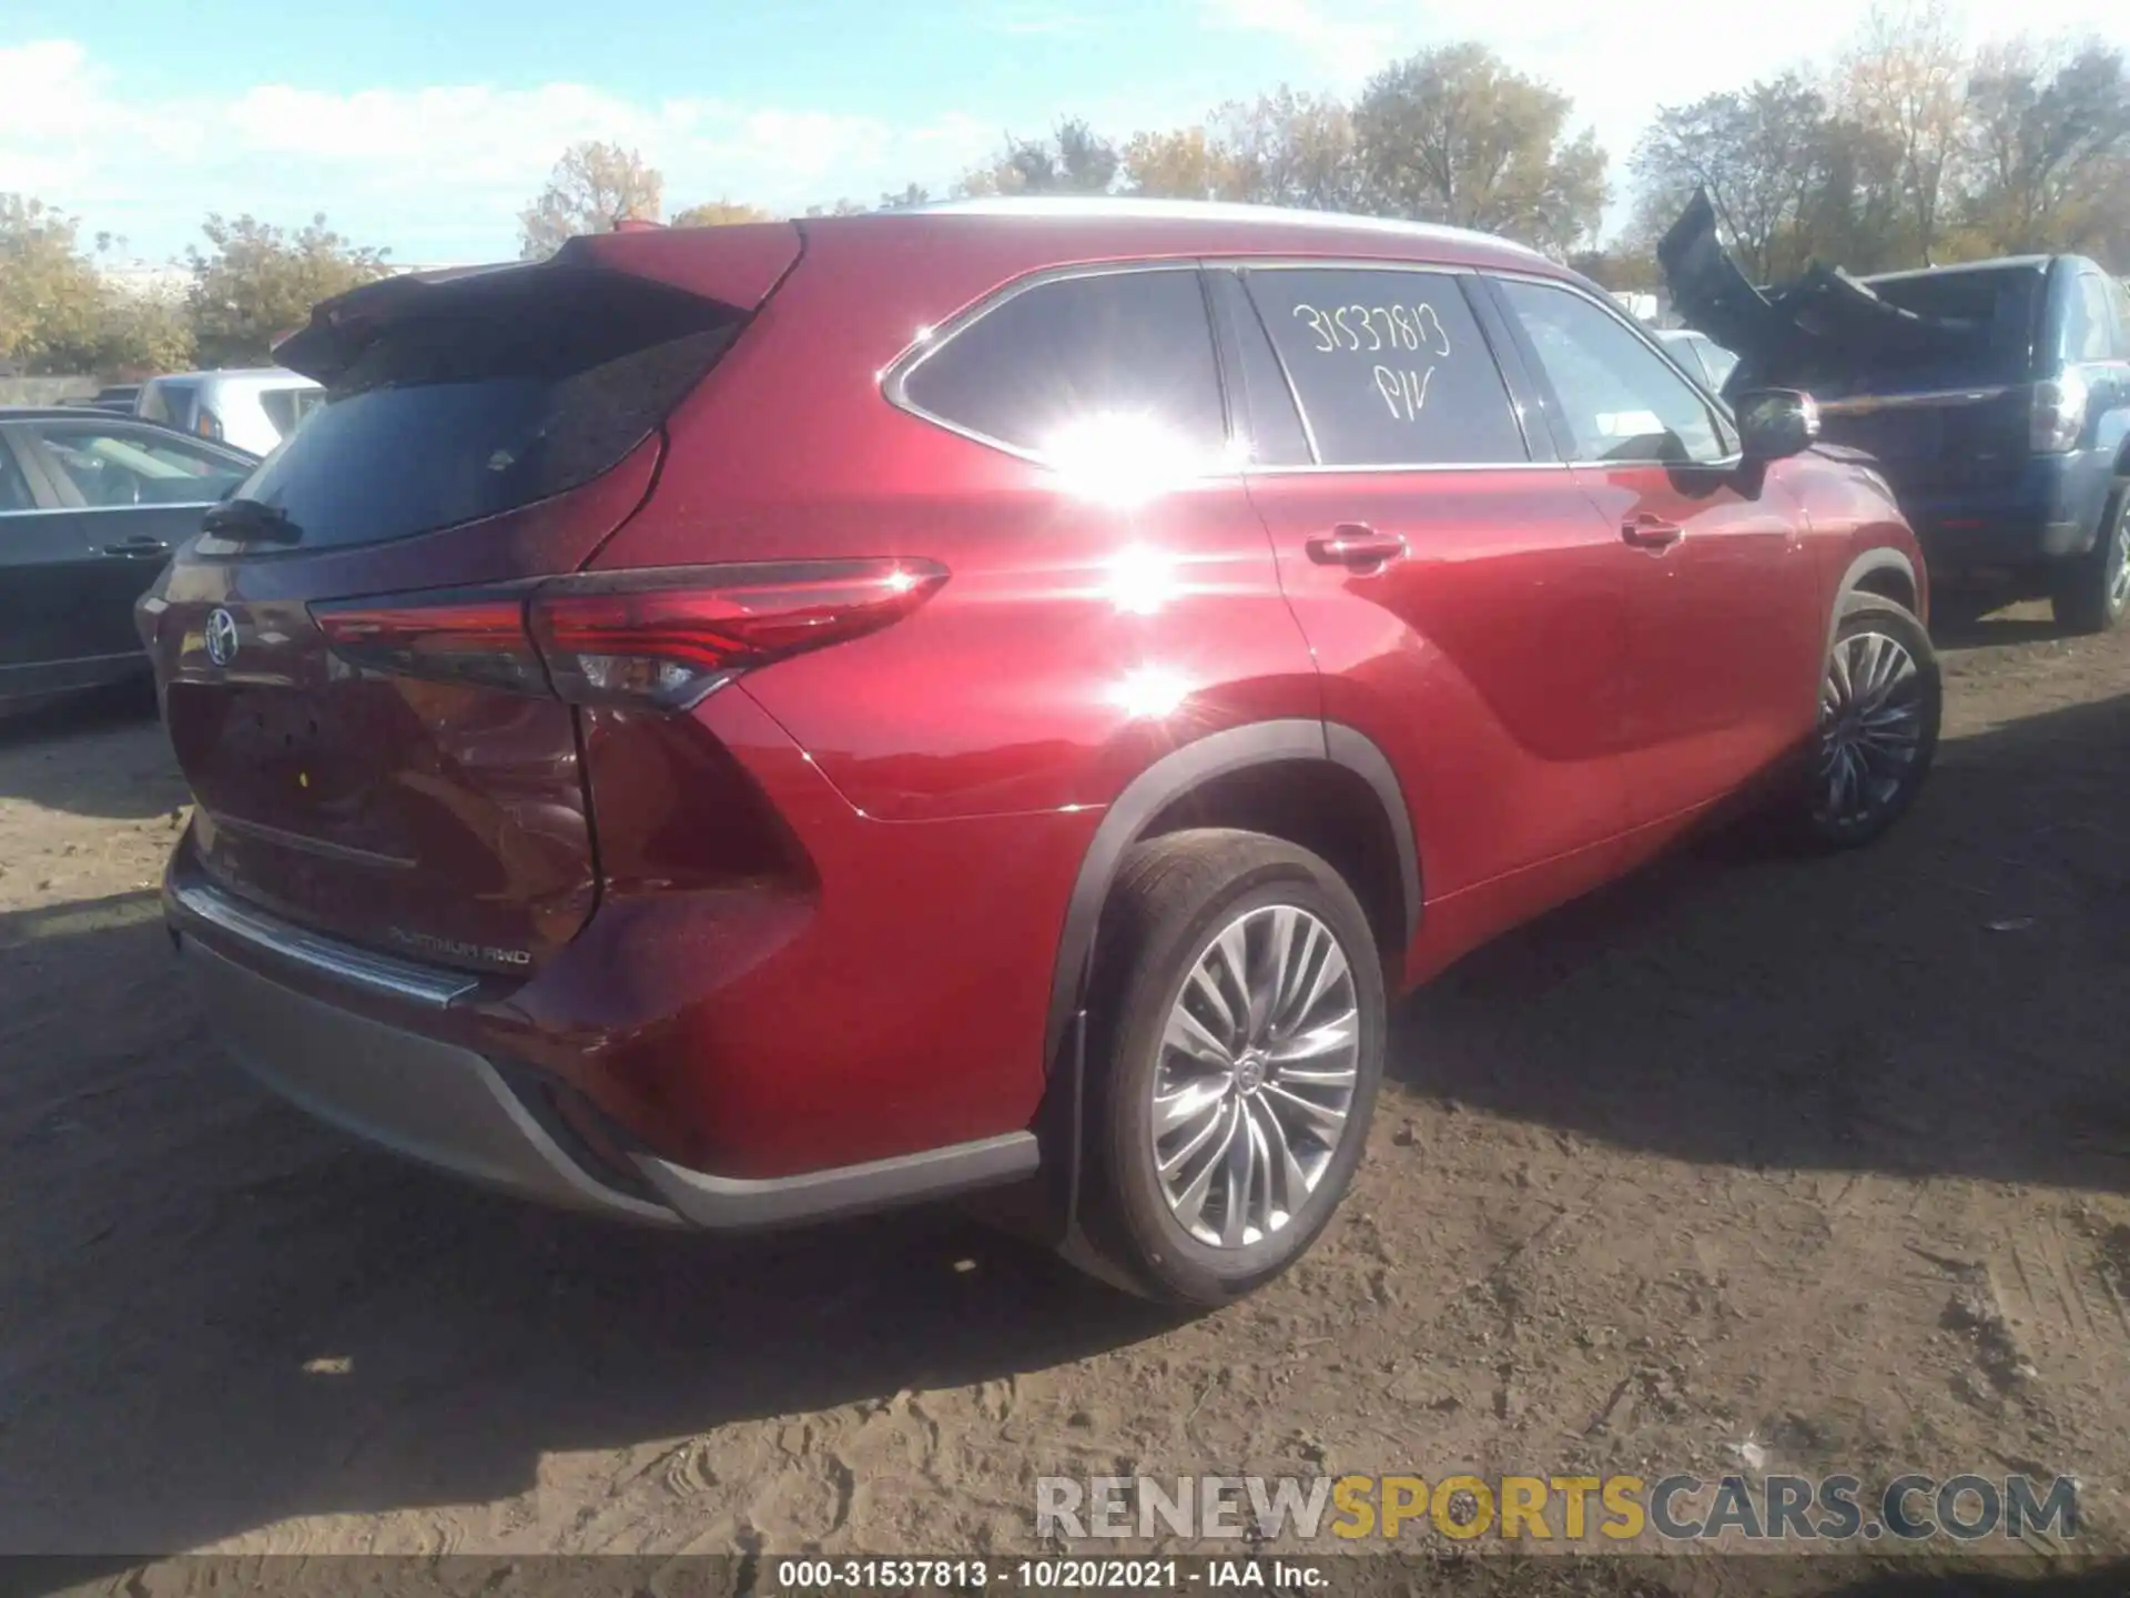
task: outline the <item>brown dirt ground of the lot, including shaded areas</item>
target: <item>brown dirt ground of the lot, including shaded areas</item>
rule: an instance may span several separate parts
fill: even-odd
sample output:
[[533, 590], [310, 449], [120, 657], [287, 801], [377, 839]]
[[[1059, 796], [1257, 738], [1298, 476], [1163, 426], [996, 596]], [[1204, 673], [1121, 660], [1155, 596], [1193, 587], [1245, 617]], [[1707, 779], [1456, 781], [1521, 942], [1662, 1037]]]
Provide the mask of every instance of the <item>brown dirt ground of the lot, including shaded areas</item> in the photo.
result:
[[1191, 1321], [952, 1212], [675, 1238], [351, 1146], [177, 982], [151, 712], [0, 731], [0, 1549], [1010, 1551], [1039, 1472], [1757, 1460], [2077, 1472], [2121, 1551], [2130, 639], [1945, 650], [1894, 837], [1451, 972], [1333, 1229]]

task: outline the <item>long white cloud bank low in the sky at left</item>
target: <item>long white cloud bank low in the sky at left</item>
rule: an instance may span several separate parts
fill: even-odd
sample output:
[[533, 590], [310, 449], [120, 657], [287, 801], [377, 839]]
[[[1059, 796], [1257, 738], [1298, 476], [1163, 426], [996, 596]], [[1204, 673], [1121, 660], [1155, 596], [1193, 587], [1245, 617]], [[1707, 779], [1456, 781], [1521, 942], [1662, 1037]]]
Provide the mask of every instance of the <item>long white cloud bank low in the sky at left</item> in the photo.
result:
[[147, 256], [209, 211], [341, 232], [398, 260], [515, 254], [518, 211], [562, 149], [603, 138], [665, 175], [671, 209], [728, 196], [801, 209], [941, 185], [997, 132], [963, 115], [890, 124], [841, 111], [694, 98], [635, 102], [581, 83], [328, 94], [264, 83], [236, 98], [121, 92], [75, 40], [0, 49], [0, 173]]

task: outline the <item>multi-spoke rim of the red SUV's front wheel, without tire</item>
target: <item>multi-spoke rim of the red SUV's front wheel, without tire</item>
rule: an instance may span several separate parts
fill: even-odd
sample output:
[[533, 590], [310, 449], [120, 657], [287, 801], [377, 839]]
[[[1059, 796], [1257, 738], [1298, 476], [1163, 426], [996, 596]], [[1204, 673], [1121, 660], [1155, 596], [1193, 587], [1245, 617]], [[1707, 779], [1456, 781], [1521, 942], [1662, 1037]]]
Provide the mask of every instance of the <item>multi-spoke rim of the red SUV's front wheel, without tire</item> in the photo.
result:
[[1859, 827], [1891, 805], [1923, 748], [1923, 673], [1885, 633], [1834, 643], [1819, 686], [1819, 797], [1815, 816]]

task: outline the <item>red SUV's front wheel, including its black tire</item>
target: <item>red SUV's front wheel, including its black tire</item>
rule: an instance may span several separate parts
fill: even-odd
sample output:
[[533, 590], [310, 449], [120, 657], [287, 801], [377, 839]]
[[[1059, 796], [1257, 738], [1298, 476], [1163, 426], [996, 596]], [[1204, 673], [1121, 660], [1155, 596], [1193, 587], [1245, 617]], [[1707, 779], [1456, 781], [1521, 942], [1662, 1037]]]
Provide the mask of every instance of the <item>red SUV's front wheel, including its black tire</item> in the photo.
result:
[[1851, 594], [1819, 686], [1813, 761], [1793, 831], [1813, 848], [1862, 848], [1915, 803], [1938, 752], [1945, 686], [1930, 633], [1877, 594]]

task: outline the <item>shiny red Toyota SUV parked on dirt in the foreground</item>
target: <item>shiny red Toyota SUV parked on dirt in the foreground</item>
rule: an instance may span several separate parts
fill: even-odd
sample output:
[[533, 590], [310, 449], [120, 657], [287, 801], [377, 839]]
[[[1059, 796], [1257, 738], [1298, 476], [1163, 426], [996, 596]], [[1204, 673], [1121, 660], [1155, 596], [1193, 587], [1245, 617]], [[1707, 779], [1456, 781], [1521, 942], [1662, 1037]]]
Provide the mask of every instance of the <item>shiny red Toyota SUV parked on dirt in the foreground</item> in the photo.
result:
[[[973, 202], [398, 277], [141, 605], [175, 940], [315, 1114], [756, 1227], [1012, 1187], [1220, 1302], [1384, 1001], [1938, 729], [1915, 539], [1468, 232]], [[1005, 1208], [995, 1197], [993, 1208]]]

